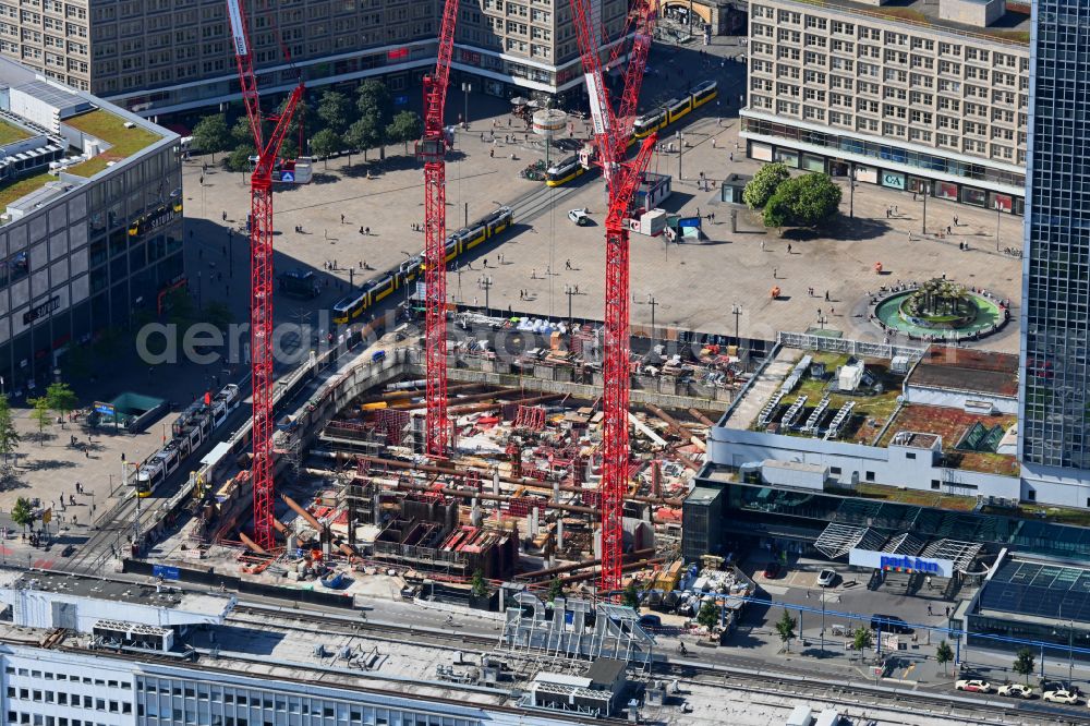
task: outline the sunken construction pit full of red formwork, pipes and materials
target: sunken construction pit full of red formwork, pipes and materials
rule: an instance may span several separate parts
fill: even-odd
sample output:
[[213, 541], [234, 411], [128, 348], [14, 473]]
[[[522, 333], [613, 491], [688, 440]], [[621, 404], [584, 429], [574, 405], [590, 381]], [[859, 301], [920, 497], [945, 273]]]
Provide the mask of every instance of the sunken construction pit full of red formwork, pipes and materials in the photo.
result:
[[[397, 576], [385, 585], [391, 594], [433, 581], [455, 598], [469, 598], [475, 579], [596, 588], [604, 415], [595, 336], [585, 326], [536, 328], [513, 331], [530, 348], [507, 361], [481, 352], [487, 336], [455, 347], [445, 458], [425, 455], [420, 351], [398, 346], [396, 331], [360, 344], [279, 421], [274, 528], [283, 544], [265, 548], [245, 533], [253, 485], [242, 453], [209, 472], [196, 516], [154, 559], [347, 594], [367, 591], [366, 573]], [[653, 389], [635, 388], [628, 413], [622, 569], [649, 584], [679, 571], [682, 500], [713, 419], [747, 377], [734, 349], [693, 350], [664, 358], [658, 347], [632, 360], [633, 380]]]

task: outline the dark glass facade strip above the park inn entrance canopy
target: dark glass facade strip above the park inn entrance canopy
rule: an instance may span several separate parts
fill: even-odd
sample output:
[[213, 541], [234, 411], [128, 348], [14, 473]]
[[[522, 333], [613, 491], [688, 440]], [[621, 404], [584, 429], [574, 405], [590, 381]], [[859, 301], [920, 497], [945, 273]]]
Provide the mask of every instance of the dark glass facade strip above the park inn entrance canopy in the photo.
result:
[[[796, 492], [724, 484], [724, 504], [710, 527], [734, 537], [753, 535], [813, 543], [829, 523], [869, 527], [886, 536], [908, 532], [922, 540], [948, 537], [1053, 557], [1090, 558], [1090, 529], [1003, 515], [950, 511], [876, 501], [827, 492]], [[718, 523], [715, 522], [718, 518]], [[688, 540], [688, 533], [687, 537]]]

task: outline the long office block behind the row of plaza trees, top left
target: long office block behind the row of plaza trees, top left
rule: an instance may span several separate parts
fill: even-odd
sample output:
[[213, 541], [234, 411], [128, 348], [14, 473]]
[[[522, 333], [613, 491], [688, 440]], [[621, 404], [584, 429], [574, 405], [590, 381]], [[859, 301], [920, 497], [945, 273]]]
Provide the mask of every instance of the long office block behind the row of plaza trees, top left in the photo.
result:
[[[0, 1], [0, 56], [49, 78], [145, 117], [239, 96], [225, 0], [33, 4]], [[622, 32], [623, 0], [591, 5], [609, 37]], [[290, 90], [300, 74], [312, 87], [382, 77], [397, 102], [405, 104], [435, 66], [438, 0], [245, 7], [263, 93]], [[568, 0], [463, 2], [453, 81], [476, 81], [474, 90], [497, 96], [576, 96], [582, 75], [570, 13]]]

